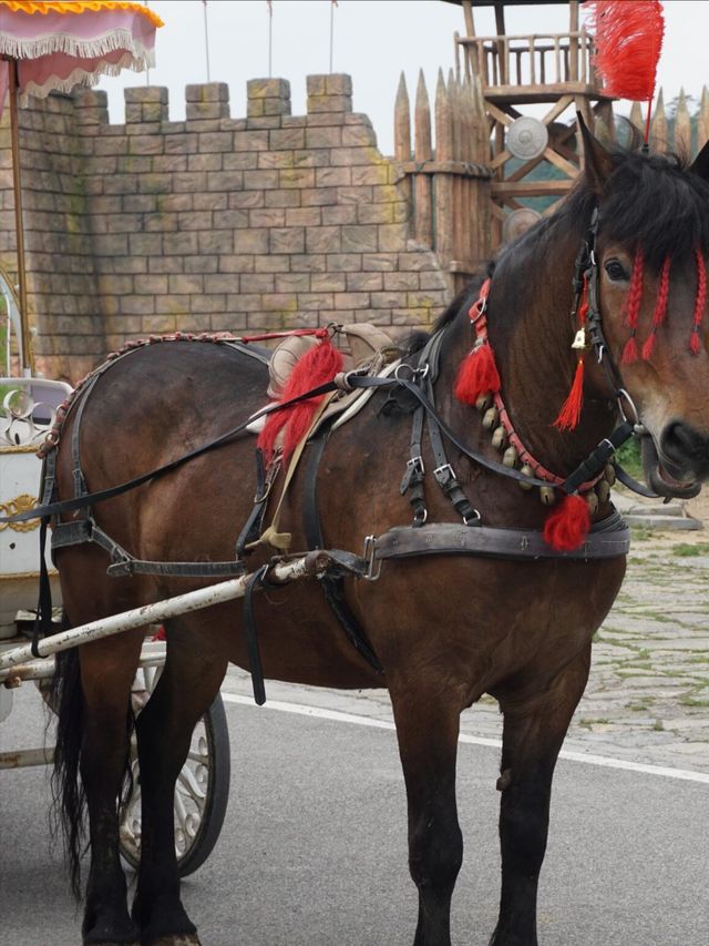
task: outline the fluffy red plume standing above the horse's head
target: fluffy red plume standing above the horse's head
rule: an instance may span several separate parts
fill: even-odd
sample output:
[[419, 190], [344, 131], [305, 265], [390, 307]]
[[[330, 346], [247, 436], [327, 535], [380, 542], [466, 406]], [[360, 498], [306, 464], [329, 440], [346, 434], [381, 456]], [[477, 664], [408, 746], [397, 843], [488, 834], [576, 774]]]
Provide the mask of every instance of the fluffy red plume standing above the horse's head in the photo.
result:
[[595, 0], [587, 9], [604, 92], [650, 102], [665, 34], [662, 4], [659, 0]]

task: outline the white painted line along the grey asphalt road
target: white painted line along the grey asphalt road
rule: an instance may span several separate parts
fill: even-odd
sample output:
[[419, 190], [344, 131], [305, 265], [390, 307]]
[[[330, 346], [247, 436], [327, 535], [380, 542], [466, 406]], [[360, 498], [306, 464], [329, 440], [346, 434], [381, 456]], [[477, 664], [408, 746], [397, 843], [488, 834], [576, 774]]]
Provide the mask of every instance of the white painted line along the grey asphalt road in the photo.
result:
[[[222, 693], [225, 703], [238, 703], [244, 706], [255, 706], [253, 696], [243, 696], [239, 693]], [[312, 716], [318, 720], [332, 720], [339, 723], [353, 723], [358, 726], [370, 726], [379, 730], [395, 730], [389, 720], [376, 720], [371, 716], [359, 716], [354, 713], [341, 713], [339, 710], [323, 710], [320, 706], [307, 706], [302, 703], [284, 703], [279, 700], [269, 700], [263, 709], [278, 710], [281, 713], [295, 713], [299, 716]], [[458, 741], [467, 745], [487, 745], [493, 749], [502, 749], [499, 739], [485, 739], [484, 736], [467, 735], [461, 733]], [[679, 779], [684, 782], [702, 782], [709, 785], [709, 773], [692, 772], [689, 769], [670, 769], [665, 765], [646, 765], [644, 762], [627, 762], [624, 759], [610, 759], [607, 755], [594, 755], [590, 752], [571, 752], [562, 750], [559, 759], [564, 762], [585, 762], [587, 765], [599, 765], [604, 769], [623, 769], [626, 772], [641, 772], [645, 775], [659, 775], [664, 779]]]

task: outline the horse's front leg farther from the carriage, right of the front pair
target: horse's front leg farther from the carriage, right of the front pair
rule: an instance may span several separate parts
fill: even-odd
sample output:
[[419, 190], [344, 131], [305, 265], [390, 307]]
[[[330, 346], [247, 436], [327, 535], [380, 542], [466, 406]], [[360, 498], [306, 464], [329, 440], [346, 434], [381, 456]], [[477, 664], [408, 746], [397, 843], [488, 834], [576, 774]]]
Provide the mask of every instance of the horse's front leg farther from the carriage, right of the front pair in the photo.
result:
[[546, 851], [554, 766], [586, 686], [590, 648], [545, 693], [500, 698], [505, 714], [501, 776], [502, 896], [490, 946], [537, 946], [536, 899]]

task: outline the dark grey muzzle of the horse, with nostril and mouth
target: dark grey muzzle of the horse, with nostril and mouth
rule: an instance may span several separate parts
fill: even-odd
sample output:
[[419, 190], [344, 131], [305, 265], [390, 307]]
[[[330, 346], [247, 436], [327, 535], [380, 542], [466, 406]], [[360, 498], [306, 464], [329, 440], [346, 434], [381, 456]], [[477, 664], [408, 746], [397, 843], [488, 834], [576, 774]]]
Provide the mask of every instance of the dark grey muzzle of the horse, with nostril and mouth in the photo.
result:
[[659, 436], [659, 447], [643, 437], [643, 468], [648, 486], [659, 496], [691, 499], [709, 479], [709, 437], [682, 420], [671, 420]]

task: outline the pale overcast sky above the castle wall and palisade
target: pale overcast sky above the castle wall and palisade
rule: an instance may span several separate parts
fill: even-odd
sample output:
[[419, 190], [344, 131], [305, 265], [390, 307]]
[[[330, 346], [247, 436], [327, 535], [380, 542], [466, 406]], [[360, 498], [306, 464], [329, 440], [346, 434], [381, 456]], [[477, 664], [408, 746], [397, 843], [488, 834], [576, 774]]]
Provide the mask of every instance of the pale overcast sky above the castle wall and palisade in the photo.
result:
[[[152, 0], [165, 21], [157, 32], [157, 67], [152, 85], [169, 90], [169, 114], [184, 119], [184, 87], [206, 82], [204, 4], [202, 0]], [[658, 84], [665, 101], [680, 87], [697, 99], [709, 85], [709, 0], [665, 0], [665, 44]], [[273, 75], [288, 79], [294, 114], [305, 114], [305, 77], [330, 71], [331, 0], [273, 0]], [[583, 8], [582, 8], [583, 9]], [[268, 75], [268, 4], [266, 0], [209, 0], [206, 6], [209, 72], [229, 87], [232, 116], [246, 113], [246, 81]], [[566, 32], [566, 4], [508, 6], [507, 33]], [[380, 149], [392, 151], [393, 102], [401, 71], [413, 98], [419, 69], [429, 93], [439, 67], [454, 64], [453, 33], [464, 32], [463, 12], [442, 0], [339, 0], [333, 10], [333, 72], [352, 77], [354, 111], [366, 112]], [[477, 35], [495, 33], [492, 8], [475, 10]], [[111, 120], [123, 121], [123, 88], [145, 78], [125, 73], [104, 80]], [[627, 111], [627, 108], [625, 109]], [[571, 111], [564, 116], [571, 118]]]

